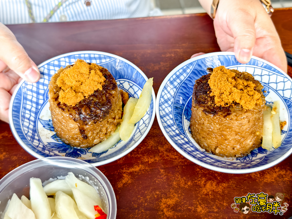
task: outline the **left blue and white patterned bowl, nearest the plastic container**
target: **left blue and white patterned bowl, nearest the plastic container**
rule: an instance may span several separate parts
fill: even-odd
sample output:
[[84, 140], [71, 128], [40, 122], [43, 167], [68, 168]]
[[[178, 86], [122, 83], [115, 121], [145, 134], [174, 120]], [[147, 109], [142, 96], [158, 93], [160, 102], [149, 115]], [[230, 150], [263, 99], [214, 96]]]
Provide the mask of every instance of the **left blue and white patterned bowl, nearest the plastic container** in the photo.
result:
[[150, 107], [145, 116], [135, 124], [127, 142], [120, 140], [112, 148], [99, 154], [89, 152], [89, 148], [70, 147], [54, 132], [48, 103], [48, 84], [60, 67], [72, 65], [77, 59], [107, 68], [116, 79], [118, 87], [135, 98], [139, 98], [148, 79], [133, 63], [110, 53], [79, 51], [56, 56], [38, 66], [41, 79], [37, 83], [22, 81], [16, 88], [9, 108], [10, 127], [18, 143], [36, 158], [65, 156], [100, 166], [128, 154], [145, 138], [155, 117], [155, 93], [152, 89]]

